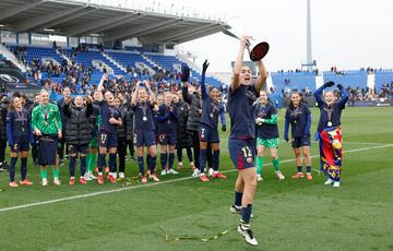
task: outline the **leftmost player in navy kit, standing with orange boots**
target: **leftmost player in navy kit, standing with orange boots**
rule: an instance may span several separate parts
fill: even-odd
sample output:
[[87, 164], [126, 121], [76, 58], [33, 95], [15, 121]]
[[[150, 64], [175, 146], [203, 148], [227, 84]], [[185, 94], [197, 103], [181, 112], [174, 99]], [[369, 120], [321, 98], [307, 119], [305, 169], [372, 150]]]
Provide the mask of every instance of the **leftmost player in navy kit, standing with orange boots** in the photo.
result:
[[21, 153], [21, 181], [22, 186], [33, 184], [26, 179], [28, 145], [33, 141], [28, 112], [22, 107], [22, 98], [13, 97], [7, 115], [7, 138], [10, 145], [11, 163], [9, 167], [11, 188], [19, 187], [15, 182], [15, 165], [17, 153]]

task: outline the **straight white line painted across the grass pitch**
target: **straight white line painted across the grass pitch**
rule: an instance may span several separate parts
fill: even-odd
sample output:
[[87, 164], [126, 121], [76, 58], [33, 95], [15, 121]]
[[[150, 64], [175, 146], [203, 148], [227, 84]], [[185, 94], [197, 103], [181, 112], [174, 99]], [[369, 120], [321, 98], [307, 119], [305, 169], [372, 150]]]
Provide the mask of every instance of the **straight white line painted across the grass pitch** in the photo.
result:
[[[365, 147], [365, 148], [348, 150], [348, 151], [344, 151], [344, 153], [356, 153], [356, 152], [361, 152], [361, 151], [386, 148], [386, 147], [392, 147], [392, 146], [393, 146], [393, 144], [380, 145], [380, 146], [371, 146], [371, 147]], [[319, 155], [312, 155], [311, 156], [311, 158], [314, 158], [314, 157], [319, 157]], [[290, 163], [290, 162], [295, 162], [295, 158], [285, 159], [285, 160], [282, 160], [281, 163]], [[266, 164], [266, 166], [271, 166], [271, 164]], [[236, 171], [236, 169], [225, 170], [223, 172], [231, 172], [231, 171]], [[133, 186], [133, 187], [119, 188], [119, 189], [106, 190], [106, 191], [100, 191], [100, 192], [86, 193], [86, 194], [67, 196], [67, 198], [60, 198], [60, 199], [55, 199], [55, 200], [49, 200], [49, 201], [41, 201], [41, 202], [24, 204], [24, 205], [9, 206], [9, 207], [0, 208], [0, 212], [14, 211], [14, 210], [22, 210], [22, 208], [39, 206], [39, 205], [53, 204], [53, 203], [58, 203], [58, 202], [72, 201], [72, 200], [90, 198], [90, 196], [97, 196], [97, 195], [102, 195], [102, 194], [121, 192], [121, 191], [132, 190], [132, 189], [148, 188], [148, 187], [153, 187], [153, 186], [172, 183], [172, 182], [182, 181], [182, 180], [190, 180], [190, 179], [195, 179], [195, 178], [194, 177], [183, 177], [183, 178], [179, 178], [179, 179], [165, 180], [165, 181], [160, 181], [160, 182], [157, 182], [157, 183], [136, 184], [136, 186]]]

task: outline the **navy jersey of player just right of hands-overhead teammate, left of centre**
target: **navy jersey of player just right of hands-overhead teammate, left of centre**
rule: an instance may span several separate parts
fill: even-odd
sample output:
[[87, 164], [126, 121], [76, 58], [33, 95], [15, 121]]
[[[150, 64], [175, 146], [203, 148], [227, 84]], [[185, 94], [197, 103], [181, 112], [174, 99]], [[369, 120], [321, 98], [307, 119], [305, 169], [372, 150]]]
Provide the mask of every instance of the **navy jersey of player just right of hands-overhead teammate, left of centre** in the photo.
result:
[[165, 104], [159, 106], [157, 115], [158, 134], [176, 133], [177, 121], [177, 106], [175, 104], [170, 104], [169, 107]]

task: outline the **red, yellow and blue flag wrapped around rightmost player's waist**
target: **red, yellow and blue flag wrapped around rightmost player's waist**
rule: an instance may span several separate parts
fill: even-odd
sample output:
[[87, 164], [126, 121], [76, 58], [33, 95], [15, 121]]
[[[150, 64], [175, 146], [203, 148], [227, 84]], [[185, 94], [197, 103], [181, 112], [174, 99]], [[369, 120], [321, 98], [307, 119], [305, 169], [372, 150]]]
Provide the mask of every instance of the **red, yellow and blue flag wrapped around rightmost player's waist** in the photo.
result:
[[333, 181], [340, 181], [343, 138], [340, 127], [325, 128], [320, 134], [321, 169]]

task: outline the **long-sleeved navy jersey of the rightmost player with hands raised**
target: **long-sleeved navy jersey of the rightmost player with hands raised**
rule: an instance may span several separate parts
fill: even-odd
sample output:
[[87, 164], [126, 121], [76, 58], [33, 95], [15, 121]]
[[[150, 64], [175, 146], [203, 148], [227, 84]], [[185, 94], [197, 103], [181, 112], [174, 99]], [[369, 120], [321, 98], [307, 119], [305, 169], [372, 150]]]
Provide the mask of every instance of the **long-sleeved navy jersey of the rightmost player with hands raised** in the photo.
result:
[[320, 121], [318, 123], [319, 132], [322, 132], [322, 130], [325, 128], [341, 125], [341, 113], [342, 110], [345, 109], [345, 104], [349, 98], [347, 91], [345, 88], [342, 88], [342, 98], [338, 101], [334, 103], [331, 107], [329, 107], [321, 97], [323, 88], [324, 86], [321, 86], [314, 92], [318, 107], [321, 110]]

